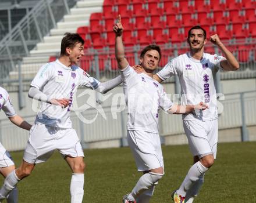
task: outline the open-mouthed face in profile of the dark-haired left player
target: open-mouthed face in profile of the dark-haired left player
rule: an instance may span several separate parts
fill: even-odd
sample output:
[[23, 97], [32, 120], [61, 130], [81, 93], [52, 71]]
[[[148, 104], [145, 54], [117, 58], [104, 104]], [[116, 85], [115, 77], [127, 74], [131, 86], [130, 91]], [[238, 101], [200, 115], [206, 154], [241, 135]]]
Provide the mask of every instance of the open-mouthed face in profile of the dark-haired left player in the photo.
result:
[[84, 56], [84, 46], [81, 42], [77, 42], [73, 48], [66, 48], [66, 52], [69, 55], [70, 63], [78, 64], [81, 57]]

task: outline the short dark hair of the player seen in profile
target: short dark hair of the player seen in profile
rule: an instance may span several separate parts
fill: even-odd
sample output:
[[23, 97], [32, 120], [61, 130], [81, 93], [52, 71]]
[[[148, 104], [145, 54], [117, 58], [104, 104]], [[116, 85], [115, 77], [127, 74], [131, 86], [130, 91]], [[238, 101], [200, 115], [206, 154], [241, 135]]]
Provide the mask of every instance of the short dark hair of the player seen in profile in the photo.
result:
[[66, 32], [61, 41], [61, 56], [66, 55], [66, 48], [73, 48], [77, 43], [84, 45], [84, 39], [77, 33]]

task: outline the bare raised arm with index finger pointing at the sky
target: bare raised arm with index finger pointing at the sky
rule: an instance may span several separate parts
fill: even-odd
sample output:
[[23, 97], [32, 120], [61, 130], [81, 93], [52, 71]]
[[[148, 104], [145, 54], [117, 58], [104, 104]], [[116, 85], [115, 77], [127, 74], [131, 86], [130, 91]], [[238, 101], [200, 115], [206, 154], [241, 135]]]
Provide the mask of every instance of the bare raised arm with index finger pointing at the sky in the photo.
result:
[[120, 70], [123, 70], [128, 66], [128, 61], [125, 58], [125, 47], [123, 46], [123, 25], [121, 22], [121, 16], [118, 15], [118, 18], [116, 19], [117, 22], [115, 26], [113, 27], [113, 31], [116, 34], [116, 44], [115, 44], [115, 56], [116, 61], [118, 62], [118, 68]]

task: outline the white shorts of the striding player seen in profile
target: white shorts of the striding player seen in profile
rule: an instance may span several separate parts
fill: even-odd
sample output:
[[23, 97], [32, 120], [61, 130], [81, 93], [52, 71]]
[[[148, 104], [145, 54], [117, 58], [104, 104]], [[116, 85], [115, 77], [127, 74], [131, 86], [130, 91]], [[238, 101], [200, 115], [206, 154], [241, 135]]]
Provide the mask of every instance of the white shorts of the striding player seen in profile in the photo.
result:
[[34, 124], [29, 133], [23, 160], [30, 164], [47, 161], [54, 150], [58, 150], [63, 158], [84, 157], [80, 140], [72, 128]]

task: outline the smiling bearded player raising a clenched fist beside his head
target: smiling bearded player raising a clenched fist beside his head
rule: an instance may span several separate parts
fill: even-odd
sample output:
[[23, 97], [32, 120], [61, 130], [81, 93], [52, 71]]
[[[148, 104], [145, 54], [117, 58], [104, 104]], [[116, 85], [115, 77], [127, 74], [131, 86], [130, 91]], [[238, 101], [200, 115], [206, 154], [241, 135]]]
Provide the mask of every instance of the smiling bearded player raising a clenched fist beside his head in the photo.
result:
[[157, 75], [154, 75], [158, 82], [173, 75], [179, 77], [183, 105], [193, 105], [203, 99], [209, 106], [199, 115], [183, 114], [184, 131], [194, 156], [194, 165], [189, 169], [179, 189], [173, 191], [172, 198], [175, 203], [193, 202], [204, 182], [205, 172], [214, 164], [216, 158], [218, 112], [214, 77], [219, 70], [239, 69], [238, 61], [222, 44], [217, 34], [212, 35], [210, 41], [221, 49], [225, 57], [204, 53], [207, 34], [202, 27], [195, 26], [188, 33], [190, 51], [170, 60]]

